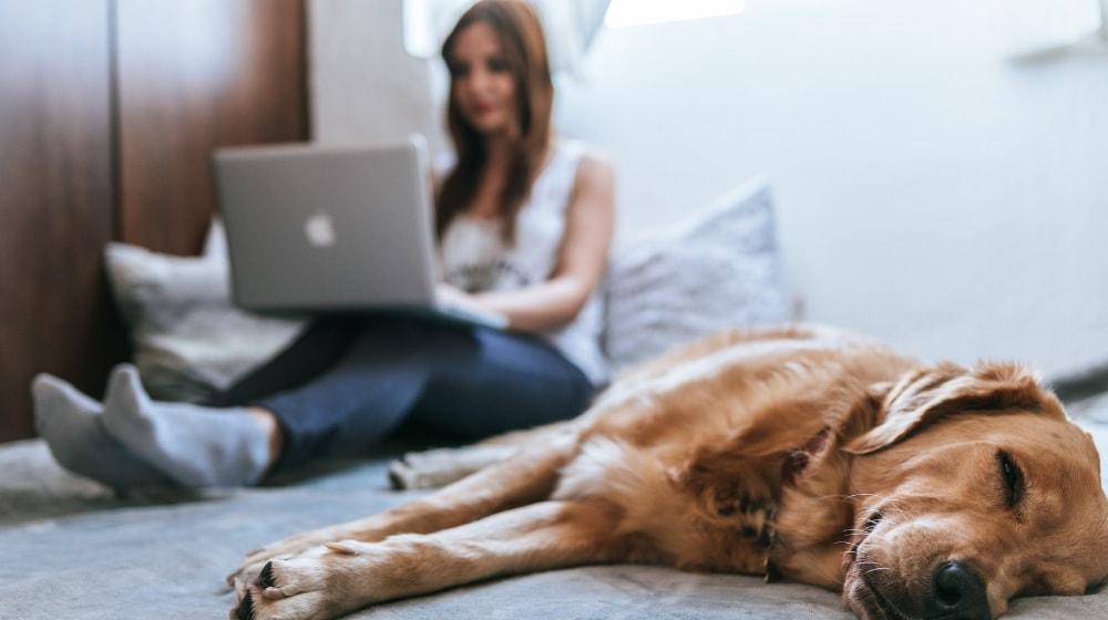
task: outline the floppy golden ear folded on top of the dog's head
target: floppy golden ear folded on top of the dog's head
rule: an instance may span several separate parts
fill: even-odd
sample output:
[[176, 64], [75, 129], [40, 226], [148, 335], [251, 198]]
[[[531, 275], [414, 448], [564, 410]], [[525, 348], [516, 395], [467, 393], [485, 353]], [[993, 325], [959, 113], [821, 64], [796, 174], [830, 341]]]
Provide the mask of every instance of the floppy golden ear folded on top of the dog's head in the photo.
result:
[[889, 447], [948, 413], [1026, 407], [1066, 418], [1061, 403], [1028, 370], [1009, 363], [978, 363], [971, 370], [943, 363], [905, 373], [895, 384], [875, 385], [871, 397], [880, 423], [847, 445], [852, 454]]

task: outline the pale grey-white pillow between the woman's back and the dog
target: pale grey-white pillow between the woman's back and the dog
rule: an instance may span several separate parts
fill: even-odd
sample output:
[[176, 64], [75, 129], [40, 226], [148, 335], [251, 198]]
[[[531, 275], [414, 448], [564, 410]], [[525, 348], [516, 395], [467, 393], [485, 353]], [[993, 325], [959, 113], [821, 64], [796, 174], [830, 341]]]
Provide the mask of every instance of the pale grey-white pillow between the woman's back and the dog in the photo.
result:
[[617, 370], [715, 331], [790, 320], [769, 184], [756, 178], [616, 252], [606, 294]]

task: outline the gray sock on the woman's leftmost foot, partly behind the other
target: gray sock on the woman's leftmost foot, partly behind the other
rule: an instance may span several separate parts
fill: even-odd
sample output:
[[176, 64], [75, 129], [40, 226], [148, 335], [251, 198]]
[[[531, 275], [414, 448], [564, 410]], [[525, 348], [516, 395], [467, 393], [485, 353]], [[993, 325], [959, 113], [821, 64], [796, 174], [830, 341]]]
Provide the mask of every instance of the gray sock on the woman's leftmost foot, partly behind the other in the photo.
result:
[[173, 486], [173, 480], [104, 431], [103, 407], [96, 401], [49, 374], [34, 378], [31, 394], [39, 434], [66, 469], [121, 490]]

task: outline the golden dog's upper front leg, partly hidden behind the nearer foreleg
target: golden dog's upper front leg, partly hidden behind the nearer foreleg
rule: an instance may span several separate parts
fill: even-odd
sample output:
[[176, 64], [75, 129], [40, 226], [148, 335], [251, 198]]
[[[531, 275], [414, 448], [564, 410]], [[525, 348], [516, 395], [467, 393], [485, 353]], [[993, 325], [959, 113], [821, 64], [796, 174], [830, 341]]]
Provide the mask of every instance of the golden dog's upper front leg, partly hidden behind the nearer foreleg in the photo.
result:
[[499, 465], [482, 469], [438, 493], [367, 518], [307, 531], [247, 555], [227, 577], [239, 597], [266, 561], [299, 554], [334, 540], [381, 540], [393, 534], [427, 534], [455, 527], [507, 508], [550, 497], [558, 469], [577, 450], [574, 428], [551, 434], [537, 445], [524, 446]]

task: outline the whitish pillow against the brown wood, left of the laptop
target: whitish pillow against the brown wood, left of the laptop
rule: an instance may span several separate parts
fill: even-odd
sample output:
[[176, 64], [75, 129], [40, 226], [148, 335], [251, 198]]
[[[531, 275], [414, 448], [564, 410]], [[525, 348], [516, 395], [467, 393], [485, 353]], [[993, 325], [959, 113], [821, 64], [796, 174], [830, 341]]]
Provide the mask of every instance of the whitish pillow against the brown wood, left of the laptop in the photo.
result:
[[300, 331], [230, 302], [226, 240], [213, 223], [205, 254], [178, 257], [109, 244], [104, 261], [151, 395], [195, 401], [229, 386]]

